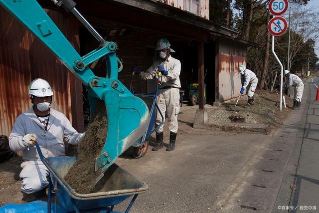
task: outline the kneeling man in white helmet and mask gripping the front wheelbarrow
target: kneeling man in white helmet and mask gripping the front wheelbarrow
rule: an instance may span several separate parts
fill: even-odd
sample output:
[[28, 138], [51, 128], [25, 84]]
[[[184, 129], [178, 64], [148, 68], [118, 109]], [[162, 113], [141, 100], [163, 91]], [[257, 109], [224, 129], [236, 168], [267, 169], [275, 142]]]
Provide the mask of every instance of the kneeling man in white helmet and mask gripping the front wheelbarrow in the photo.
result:
[[45, 158], [61, 157], [65, 156], [64, 142], [78, 144], [85, 133], [78, 133], [62, 113], [51, 108], [53, 92], [46, 80], [33, 80], [28, 92], [33, 105], [17, 117], [9, 146], [14, 152], [22, 151], [21, 191], [33, 194], [48, 185], [49, 175], [34, 144], [39, 144]]

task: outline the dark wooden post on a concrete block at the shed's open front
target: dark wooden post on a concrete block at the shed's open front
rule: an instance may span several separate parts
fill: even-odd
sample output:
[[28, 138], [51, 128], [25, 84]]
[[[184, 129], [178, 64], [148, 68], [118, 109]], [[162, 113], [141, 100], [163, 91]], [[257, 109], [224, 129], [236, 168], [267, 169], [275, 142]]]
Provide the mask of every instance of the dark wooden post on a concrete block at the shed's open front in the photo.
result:
[[198, 100], [199, 109], [204, 109], [204, 42], [198, 41]]

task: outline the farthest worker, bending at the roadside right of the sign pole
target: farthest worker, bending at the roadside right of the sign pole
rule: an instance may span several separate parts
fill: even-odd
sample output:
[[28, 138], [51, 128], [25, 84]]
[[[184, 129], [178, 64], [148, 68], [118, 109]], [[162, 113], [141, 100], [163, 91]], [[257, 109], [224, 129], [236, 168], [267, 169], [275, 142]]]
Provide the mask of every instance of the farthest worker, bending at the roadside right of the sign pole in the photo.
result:
[[288, 87], [295, 87], [294, 89], [294, 106], [293, 110], [300, 110], [300, 105], [301, 105], [301, 98], [303, 97], [303, 92], [304, 92], [304, 82], [300, 77], [298, 77], [295, 74], [292, 74], [289, 72], [289, 70], [284, 70], [284, 75], [286, 77], [285, 82], [283, 83], [284, 86]]

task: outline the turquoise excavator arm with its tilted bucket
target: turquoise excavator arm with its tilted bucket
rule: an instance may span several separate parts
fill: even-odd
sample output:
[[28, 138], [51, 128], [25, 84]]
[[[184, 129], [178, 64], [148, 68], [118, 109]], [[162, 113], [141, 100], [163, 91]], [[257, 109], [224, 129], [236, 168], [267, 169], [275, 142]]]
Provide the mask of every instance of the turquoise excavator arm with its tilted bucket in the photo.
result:
[[[52, 0], [72, 12], [100, 42], [100, 46], [81, 57], [36, 0], [0, 0], [9, 13], [26, 26], [88, 89], [91, 115], [97, 100], [105, 102], [108, 129], [105, 145], [96, 158], [95, 171], [103, 172], [132, 144], [141, 142], [150, 123], [147, 105], [134, 96], [118, 79], [122, 63], [116, 56], [116, 43], [105, 41], [76, 10], [73, 0]], [[94, 75], [88, 65], [106, 59], [106, 77]]]

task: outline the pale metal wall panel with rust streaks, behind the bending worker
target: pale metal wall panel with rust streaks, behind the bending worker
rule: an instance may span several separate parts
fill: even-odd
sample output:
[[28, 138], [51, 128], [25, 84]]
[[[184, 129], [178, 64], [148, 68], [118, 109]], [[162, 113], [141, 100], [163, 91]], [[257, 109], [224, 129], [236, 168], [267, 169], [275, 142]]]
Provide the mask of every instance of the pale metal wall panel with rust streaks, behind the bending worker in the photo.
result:
[[240, 64], [246, 65], [247, 50], [244, 44], [223, 39], [216, 42], [216, 96], [217, 102], [238, 97], [241, 80]]

